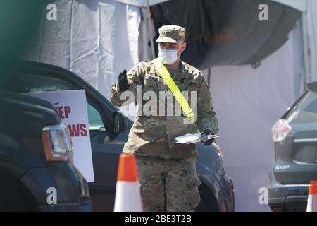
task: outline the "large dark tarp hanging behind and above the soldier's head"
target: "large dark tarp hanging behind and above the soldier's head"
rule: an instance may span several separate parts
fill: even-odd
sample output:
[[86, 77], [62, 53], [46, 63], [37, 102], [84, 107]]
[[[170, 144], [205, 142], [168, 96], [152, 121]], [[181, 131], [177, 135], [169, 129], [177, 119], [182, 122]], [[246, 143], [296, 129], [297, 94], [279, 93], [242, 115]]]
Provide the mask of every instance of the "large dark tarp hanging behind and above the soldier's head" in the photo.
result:
[[[260, 4], [268, 5], [268, 21], [258, 18]], [[300, 16], [268, 0], [171, 0], [151, 6], [151, 12], [156, 30], [166, 24], [187, 29], [182, 59], [199, 69], [256, 64], [287, 41]]]

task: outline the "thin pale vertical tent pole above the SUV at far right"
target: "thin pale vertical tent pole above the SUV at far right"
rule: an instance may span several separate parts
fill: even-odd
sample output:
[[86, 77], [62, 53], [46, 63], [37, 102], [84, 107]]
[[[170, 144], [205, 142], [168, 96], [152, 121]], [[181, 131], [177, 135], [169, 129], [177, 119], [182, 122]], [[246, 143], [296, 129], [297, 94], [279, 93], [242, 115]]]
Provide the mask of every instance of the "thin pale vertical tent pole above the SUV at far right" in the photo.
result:
[[307, 32], [307, 12], [302, 13], [302, 40], [303, 40], [303, 58], [304, 58], [304, 90], [309, 78], [309, 55], [308, 55], [308, 32]]

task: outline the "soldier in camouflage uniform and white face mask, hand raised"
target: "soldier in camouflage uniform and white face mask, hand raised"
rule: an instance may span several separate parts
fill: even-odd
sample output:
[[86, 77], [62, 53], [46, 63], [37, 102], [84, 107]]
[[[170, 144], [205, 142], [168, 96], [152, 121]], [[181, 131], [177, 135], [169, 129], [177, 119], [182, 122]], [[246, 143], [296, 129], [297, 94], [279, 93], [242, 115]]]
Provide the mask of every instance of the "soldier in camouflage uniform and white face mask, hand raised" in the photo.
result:
[[[174, 100], [172, 105], [165, 105], [163, 115], [159, 114], [159, 103], [168, 102], [173, 95], [156, 70], [153, 61], [138, 63], [130, 71], [123, 71], [118, 82], [111, 89], [111, 101], [116, 106], [128, 105], [135, 98], [122, 100], [120, 95], [130, 91], [137, 96], [137, 86], [142, 87], [142, 95], [152, 91], [157, 95], [157, 106], [151, 106], [151, 112], [157, 114], [137, 115], [130, 130], [124, 153], [134, 153], [141, 184], [144, 211], [192, 211], [198, 206], [200, 196], [198, 186], [201, 184], [196, 174], [195, 161], [197, 150], [194, 144], [174, 143], [176, 136], [186, 133], [218, 133], [218, 121], [213, 111], [211, 93], [202, 73], [193, 66], [180, 60], [185, 50], [185, 28], [177, 25], [165, 25], [159, 29], [159, 58], [168, 69], [180, 91], [189, 91], [187, 98], [191, 105], [192, 95], [197, 96], [197, 108], [193, 124], [184, 123], [184, 114], [170, 115], [178, 107]], [[159, 92], [169, 93], [160, 98]], [[174, 98], [175, 99], [175, 98]], [[142, 104], [147, 104], [143, 100]], [[142, 107], [142, 106], [141, 106]], [[213, 141], [205, 141], [210, 145]]]

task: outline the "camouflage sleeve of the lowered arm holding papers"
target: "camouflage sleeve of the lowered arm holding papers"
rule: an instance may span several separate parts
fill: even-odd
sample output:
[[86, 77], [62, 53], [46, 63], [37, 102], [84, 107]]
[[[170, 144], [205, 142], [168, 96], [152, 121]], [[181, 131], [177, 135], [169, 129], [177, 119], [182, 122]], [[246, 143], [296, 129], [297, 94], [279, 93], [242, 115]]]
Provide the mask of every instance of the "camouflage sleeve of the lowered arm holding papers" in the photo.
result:
[[205, 129], [218, 133], [218, 119], [216, 112], [213, 111], [213, 103], [209, 85], [206, 83], [201, 74], [201, 83], [197, 92], [197, 120], [196, 124], [199, 131], [204, 132]]

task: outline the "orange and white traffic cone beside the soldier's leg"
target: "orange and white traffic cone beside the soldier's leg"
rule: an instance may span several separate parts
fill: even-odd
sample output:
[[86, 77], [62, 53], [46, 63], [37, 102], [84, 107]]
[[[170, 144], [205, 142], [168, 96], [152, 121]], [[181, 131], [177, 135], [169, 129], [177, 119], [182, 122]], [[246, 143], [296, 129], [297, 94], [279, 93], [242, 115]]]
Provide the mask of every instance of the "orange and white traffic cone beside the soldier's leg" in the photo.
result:
[[135, 155], [120, 154], [114, 211], [142, 212]]

